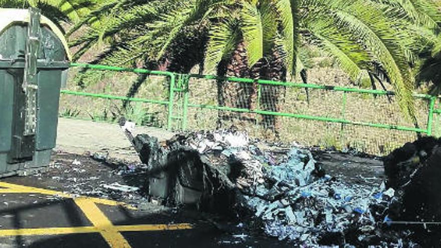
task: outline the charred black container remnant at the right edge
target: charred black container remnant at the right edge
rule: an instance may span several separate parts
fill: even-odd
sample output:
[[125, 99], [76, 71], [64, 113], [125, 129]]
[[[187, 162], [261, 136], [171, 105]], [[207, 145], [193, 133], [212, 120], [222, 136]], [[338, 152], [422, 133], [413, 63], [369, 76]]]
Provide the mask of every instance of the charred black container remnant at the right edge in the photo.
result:
[[384, 158], [386, 185], [395, 190], [388, 218], [426, 245], [441, 244], [441, 139], [422, 137]]

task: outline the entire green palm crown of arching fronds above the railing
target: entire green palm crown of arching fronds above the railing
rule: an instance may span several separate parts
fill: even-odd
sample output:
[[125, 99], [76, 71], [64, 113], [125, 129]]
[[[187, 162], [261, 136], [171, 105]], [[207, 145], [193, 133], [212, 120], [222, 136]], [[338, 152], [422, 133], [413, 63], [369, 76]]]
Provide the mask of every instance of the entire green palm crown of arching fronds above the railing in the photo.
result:
[[[353, 80], [368, 75], [390, 83], [404, 115], [413, 117], [419, 55], [440, 44], [439, 5], [436, 0], [126, 0], [89, 15], [83, 22], [106, 21], [72, 45], [81, 47], [78, 58], [107, 40], [111, 46], [103, 63], [173, 68], [180, 56], [196, 55], [186, 62], [202, 64], [205, 73], [284, 80], [301, 68], [297, 53], [303, 37], [334, 56]], [[181, 41], [203, 44], [205, 52], [194, 53]], [[220, 89], [220, 100], [237, 105], [237, 90]], [[254, 107], [256, 90], [240, 90], [249, 96], [246, 107]], [[269, 94], [277, 99], [279, 93]], [[277, 110], [277, 102], [266, 108]]]

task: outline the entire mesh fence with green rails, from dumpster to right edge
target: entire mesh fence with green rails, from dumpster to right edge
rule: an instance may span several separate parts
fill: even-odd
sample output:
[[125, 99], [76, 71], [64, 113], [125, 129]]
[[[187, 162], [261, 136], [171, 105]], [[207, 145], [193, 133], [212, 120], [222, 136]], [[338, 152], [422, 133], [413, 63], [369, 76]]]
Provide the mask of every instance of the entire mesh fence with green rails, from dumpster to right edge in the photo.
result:
[[[126, 116], [140, 125], [173, 130], [235, 128], [268, 141], [376, 155], [413, 141], [417, 133], [441, 135], [441, 102], [430, 96], [415, 96], [414, 123], [401, 114], [396, 97], [384, 91], [133, 72], [106, 72], [105, 84], [87, 87], [96, 94], [93, 98], [65, 92], [61, 115], [104, 120]], [[125, 99], [112, 97], [120, 92], [127, 92]]]

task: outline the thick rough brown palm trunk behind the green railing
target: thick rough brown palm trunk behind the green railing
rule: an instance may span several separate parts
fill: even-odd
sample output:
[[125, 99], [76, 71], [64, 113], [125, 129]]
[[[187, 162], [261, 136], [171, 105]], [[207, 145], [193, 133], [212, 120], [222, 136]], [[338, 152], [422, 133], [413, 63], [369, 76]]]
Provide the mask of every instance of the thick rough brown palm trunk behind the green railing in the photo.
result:
[[[226, 75], [238, 78], [269, 79], [275, 81], [286, 80], [286, 69], [281, 56], [274, 52], [269, 59], [262, 59], [253, 68], [249, 68], [245, 44], [239, 43], [228, 63], [220, 64], [218, 75]], [[285, 93], [283, 86], [261, 85], [261, 97], [259, 102], [258, 85], [250, 83], [217, 82], [219, 106], [232, 108], [245, 108], [277, 112], [280, 111], [280, 97]], [[282, 100], [283, 101], [283, 100]], [[222, 111], [219, 114], [217, 127], [225, 127], [225, 122], [235, 120], [258, 124], [255, 114], [237, 114], [230, 111]], [[280, 119], [272, 115], [264, 115], [260, 123], [265, 129], [278, 133], [281, 127]]]

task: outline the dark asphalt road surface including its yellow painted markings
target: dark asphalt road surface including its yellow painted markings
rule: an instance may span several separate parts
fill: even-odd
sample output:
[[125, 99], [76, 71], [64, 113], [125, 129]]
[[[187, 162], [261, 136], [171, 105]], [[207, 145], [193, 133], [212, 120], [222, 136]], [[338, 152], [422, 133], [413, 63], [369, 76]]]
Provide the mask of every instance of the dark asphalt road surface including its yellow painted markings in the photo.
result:
[[[191, 209], [151, 203], [142, 195], [142, 180], [119, 175], [124, 169], [56, 153], [46, 172], [2, 179], [0, 247], [292, 247], [240, 228], [218, 228]], [[106, 188], [115, 182], [140, 189]]]

